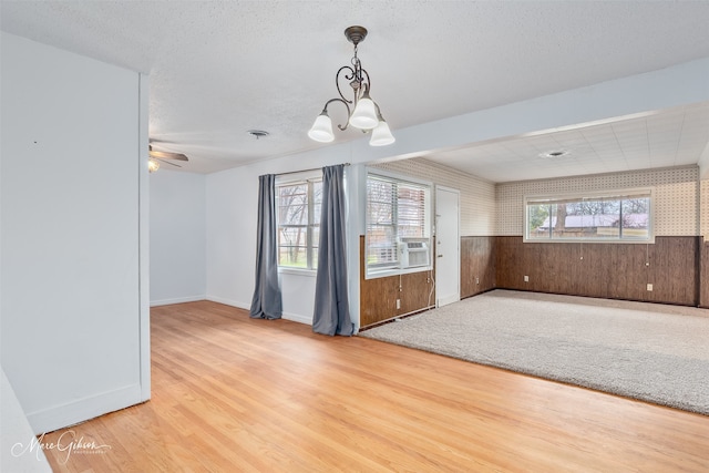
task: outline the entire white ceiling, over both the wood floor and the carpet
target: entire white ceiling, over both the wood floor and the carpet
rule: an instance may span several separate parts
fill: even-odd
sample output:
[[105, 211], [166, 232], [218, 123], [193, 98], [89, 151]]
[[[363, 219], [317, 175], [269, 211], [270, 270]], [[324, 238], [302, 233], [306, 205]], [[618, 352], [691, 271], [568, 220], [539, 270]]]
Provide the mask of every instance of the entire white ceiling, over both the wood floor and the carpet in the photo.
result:
[[[351, 24], [369, 29], [359, 58], [394, 135], [709, 58], [709, 1], [2, 0], [0, 14], [3, 31], [150, 73], [154, 146], [203, 173], [322, 147], [306, 132], [337, 94]], [[708, 142], [703, 103], [425, 157], [504, 182], [695, 164]]]

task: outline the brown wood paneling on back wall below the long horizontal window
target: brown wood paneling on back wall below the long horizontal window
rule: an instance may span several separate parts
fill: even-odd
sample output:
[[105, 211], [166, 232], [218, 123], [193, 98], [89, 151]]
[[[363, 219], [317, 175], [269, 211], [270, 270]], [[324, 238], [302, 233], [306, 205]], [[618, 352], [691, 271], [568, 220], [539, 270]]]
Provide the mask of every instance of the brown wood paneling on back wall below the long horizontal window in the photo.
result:
[[[657, 237], [654, 245], [641, 245], [523, 243], [522, 237], [496, 237], [495, 287], [697, 306], [699, 238]], [[706, 259], [701, 257], [705, 265]], [[647, 290], [648, 284], [653, 291]], [[703, 286], [701, 290], [707, 291]]]

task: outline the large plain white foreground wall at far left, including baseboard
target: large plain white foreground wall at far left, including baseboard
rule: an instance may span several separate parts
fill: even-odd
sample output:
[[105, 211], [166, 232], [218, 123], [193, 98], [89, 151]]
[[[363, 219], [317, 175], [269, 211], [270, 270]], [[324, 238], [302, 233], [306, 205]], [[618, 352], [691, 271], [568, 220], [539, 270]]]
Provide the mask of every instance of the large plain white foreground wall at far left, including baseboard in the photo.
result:
[[147, 399], [145, 85], [2, 33], [2, 368], [34, 432]]

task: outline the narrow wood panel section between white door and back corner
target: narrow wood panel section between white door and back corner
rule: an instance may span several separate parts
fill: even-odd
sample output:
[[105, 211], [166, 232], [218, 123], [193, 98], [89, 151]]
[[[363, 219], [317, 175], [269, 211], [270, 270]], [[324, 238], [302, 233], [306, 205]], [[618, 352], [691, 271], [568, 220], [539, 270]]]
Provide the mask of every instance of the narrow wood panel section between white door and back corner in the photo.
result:
[[461, 238], [461, 298], [495, 288], [495, 237]]

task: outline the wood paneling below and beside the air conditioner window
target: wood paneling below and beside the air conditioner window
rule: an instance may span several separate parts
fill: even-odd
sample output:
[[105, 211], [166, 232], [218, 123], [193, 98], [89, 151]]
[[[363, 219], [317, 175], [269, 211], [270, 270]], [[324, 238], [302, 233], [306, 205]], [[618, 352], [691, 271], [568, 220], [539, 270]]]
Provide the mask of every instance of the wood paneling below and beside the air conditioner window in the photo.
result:
[[[364, 237], [360, 236], [360, 326], [367, 327], [435, 305], [429, 271], [366, 279]], [[397, 309], [397, 299], [400, 308]]]

